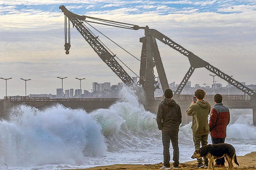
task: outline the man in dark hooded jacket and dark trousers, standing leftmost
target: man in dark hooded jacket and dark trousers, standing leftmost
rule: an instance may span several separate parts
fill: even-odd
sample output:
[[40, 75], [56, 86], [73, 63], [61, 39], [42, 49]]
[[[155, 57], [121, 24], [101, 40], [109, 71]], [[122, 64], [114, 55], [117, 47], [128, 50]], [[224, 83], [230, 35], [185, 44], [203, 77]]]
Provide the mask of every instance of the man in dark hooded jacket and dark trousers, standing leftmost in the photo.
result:
[[161, 169], [170, 169], [170, 141], [173, 148], [173, 169], [178, 169], [179, 165], [179, 147], [178, 147], [178, 132], [181, 123], [180, 106], [172, 99], [172, 90], [166, 89], [164, 92], [166, 97], [159, 104], [157, 111], [157, 126], [162, 130], [163, 140], [163, 164]]

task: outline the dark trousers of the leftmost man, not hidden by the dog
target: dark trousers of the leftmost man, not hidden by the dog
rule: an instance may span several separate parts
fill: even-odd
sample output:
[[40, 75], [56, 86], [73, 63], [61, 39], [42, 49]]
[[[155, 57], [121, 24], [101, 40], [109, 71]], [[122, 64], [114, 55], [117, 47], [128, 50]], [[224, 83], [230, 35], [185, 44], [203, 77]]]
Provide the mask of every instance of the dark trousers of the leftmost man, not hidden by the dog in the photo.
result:
[[179, 146], [178, 146], [178, 130], [175, 133], [163, 133], [163, 164], [166, 167], [170, 167], [170, 141], [172, 142], [173, 157], [172, 160], [173, 166], [178, 167], [179, 165]]

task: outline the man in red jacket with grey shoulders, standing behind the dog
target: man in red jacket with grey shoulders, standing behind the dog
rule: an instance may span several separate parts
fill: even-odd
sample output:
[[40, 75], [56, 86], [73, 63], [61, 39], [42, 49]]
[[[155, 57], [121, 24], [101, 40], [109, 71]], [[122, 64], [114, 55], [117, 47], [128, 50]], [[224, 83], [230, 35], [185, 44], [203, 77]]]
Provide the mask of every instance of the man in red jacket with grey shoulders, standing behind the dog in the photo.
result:
[[[215, 94], [214, 107], [212, 108], [209, 128], [212, 137], [212, 144], [224, 143], [226, 138], [227, 125], [230, 122], [229, 109], [222, 104], [222, 96]], [[225, 159], [216, 159], [215, 167], [225, 167]]]

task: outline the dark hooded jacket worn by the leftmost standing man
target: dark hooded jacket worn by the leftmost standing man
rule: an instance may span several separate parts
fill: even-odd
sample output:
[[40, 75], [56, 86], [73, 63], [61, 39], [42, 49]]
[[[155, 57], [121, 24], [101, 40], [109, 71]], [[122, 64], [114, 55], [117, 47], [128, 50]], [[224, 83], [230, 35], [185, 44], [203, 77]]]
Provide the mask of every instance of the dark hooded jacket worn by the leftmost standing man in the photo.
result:
[[181, 123], [180, 106], [174, 99], [164, 99], [158, 106], [157, 127], [163, 133], [177, 133]]

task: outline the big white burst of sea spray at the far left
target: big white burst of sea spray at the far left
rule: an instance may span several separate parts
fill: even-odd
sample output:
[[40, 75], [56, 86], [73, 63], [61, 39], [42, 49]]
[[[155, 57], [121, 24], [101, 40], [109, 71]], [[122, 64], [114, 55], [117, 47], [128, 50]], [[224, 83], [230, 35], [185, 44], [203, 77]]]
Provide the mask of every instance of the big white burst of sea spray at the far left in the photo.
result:
[[2, 164], [84, 164], [107, 149], [101, 127], [83, 110], [56, 105], [39, 111], [20, 105], [0, 122]]

